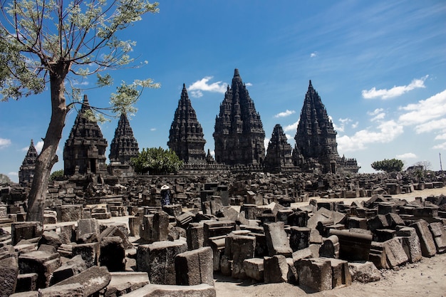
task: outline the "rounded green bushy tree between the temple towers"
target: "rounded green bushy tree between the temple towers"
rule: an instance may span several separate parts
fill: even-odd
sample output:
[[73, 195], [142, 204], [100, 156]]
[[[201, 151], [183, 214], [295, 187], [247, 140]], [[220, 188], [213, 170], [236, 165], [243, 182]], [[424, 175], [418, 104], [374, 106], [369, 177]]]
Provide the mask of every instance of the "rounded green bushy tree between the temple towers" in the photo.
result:
[[131, 162], [137, 174], [175, 173], [183, 165], [173, 150], [164, 150], [162, 147], [142, 149], [138, 157], [133, 157]]

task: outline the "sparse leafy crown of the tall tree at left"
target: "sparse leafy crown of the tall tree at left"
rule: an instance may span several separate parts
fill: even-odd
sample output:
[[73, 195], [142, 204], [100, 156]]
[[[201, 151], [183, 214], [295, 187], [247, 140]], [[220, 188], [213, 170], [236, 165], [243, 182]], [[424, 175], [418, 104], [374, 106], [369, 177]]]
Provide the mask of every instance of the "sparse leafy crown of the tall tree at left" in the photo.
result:
[[110, 75], [100, 72], [136, 66], [135, 42], [118, 38], [119, 31], [157, 13], [157, 6], [147, 0], [0, 1], [1, 100], [41, 93], [51, 75], [67, 80], [61, 91], [73, 102], [79, 77], [96, 74], [99, 87], [111, 85]]

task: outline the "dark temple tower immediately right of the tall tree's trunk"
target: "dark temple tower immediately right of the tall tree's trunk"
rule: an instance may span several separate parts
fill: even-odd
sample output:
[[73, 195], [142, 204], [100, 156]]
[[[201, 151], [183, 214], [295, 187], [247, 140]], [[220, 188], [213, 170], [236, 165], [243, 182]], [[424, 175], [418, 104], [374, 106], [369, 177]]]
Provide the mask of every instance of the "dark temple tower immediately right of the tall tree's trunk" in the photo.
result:
[[98, 123], [91, 121], [85, 112], [91, 110], [87, 95], [83, 97], [68, 140], [63, 147], [64, 174], [106, 174], [105, 149], [107, 140], [102, 135]]

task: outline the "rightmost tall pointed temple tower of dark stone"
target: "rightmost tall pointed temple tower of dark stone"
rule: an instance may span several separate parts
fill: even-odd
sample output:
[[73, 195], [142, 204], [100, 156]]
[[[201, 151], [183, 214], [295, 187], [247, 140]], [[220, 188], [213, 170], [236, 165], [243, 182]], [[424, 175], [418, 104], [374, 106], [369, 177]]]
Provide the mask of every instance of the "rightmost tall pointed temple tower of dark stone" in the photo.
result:
[[296, 165], [299, 167], [320, 165], [322, 172], [336, 173], [336, 160], [339, 157], [336, 131], [328, 118], [321, 97], [311, 85], [311, 80], [294, 139]]

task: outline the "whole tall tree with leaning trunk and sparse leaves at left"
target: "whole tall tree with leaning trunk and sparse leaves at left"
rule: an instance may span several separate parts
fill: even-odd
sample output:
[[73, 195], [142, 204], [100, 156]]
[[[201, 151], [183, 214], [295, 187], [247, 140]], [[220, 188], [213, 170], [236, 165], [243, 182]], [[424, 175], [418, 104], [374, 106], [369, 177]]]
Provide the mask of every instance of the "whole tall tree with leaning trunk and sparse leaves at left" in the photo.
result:
[[[76, 78], [96, 74], [98, 86], [110, 85], [109, 71], [133, 63], [133, 41], [118, 38], [146, 13], [156, 13], [157, 3], [147, 0], [0, 0], [0, 95], [18, 100], [43, 92], [49, 83], [51, 120], [36, 160], [28, 195], [28, 221], [43, 222], [46, 189], [68, 110], [79, 90]], [[81, 76], [79, 76], [81, 75]], [[137, 87], [157, 87], [152, 80], [121, 85], [112, 96], [113, 111], [132, 111]], [[71, 90], [73, 103], [67, 104]], [[77, 95], [76, 95], [77, 94]], [[81, 104], [81, 103], [80, 103]]]

